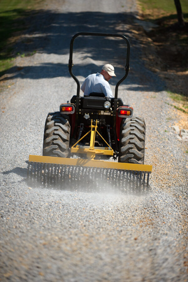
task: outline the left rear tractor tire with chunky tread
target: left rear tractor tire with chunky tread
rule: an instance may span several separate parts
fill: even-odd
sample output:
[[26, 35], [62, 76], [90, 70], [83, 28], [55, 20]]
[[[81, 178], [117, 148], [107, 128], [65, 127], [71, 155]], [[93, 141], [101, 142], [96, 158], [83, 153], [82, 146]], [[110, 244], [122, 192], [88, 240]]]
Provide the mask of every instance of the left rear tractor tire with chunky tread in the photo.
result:
[[43, 156], [67, 158], [69, 155], [70, 123], [68, 115], [49, 113], [44, 127]]

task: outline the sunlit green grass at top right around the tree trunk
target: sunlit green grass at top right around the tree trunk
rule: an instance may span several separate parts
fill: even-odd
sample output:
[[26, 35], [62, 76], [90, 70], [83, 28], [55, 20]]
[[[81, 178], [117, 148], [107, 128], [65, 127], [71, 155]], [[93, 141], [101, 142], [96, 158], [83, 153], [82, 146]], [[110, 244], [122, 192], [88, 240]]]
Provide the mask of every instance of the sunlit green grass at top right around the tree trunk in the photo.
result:
[[[146, 10], [155, 10], [156, 14], [157, 14], [157, 11], [159, 11], [159, 13], [164, 16], [165, 14], [175, 14], [176, 13], [174, 0], [165, 0], [165, 1], [164, 0], [139, 0], [138, 2], [140, 3], [140, 6], [143, 12], [145, 12]], [[180, 3], [181, 3], [183, 14], [187, 14], [188, 13], [188, 1], [180, 0]]]

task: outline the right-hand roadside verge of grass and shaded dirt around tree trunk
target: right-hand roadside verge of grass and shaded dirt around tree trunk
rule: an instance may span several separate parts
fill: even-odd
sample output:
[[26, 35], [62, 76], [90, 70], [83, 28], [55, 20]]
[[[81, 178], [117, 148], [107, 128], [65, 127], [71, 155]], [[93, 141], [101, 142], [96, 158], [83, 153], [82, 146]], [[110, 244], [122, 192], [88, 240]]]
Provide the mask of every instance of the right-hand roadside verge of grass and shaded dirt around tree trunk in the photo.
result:
[[174, 0], [138, 0], [141, 19], [158, 25], [145, 31], [150, 40], [144, 46], [146, 65], [165, 80], [167, 92], [175, 102], [172, 106], [188, 113], [188, 1], [180, 3], [183, 28], [178, 25]]

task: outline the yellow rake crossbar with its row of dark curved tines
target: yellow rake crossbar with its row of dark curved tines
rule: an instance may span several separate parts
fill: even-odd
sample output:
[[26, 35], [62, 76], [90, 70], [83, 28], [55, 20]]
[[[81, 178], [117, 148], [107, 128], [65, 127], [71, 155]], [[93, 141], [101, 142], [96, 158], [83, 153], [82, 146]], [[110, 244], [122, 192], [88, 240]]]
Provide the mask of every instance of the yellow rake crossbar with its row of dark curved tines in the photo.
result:
[[74, 158], [29, 156], [28, 184], [60, 189], [148, 190], [152, 166]]

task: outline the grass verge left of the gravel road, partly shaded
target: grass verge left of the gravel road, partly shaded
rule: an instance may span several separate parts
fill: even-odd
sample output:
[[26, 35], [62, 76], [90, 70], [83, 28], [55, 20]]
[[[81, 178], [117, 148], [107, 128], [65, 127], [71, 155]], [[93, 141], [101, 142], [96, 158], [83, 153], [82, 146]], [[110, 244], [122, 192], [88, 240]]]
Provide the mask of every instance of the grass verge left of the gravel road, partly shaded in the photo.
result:
[[[0, 0], [0, 75], [13, 66], [13, 37], [24, 30], [24, 19], [43, 0]], [[33, 10], [33, 11], [32, 11]]]

